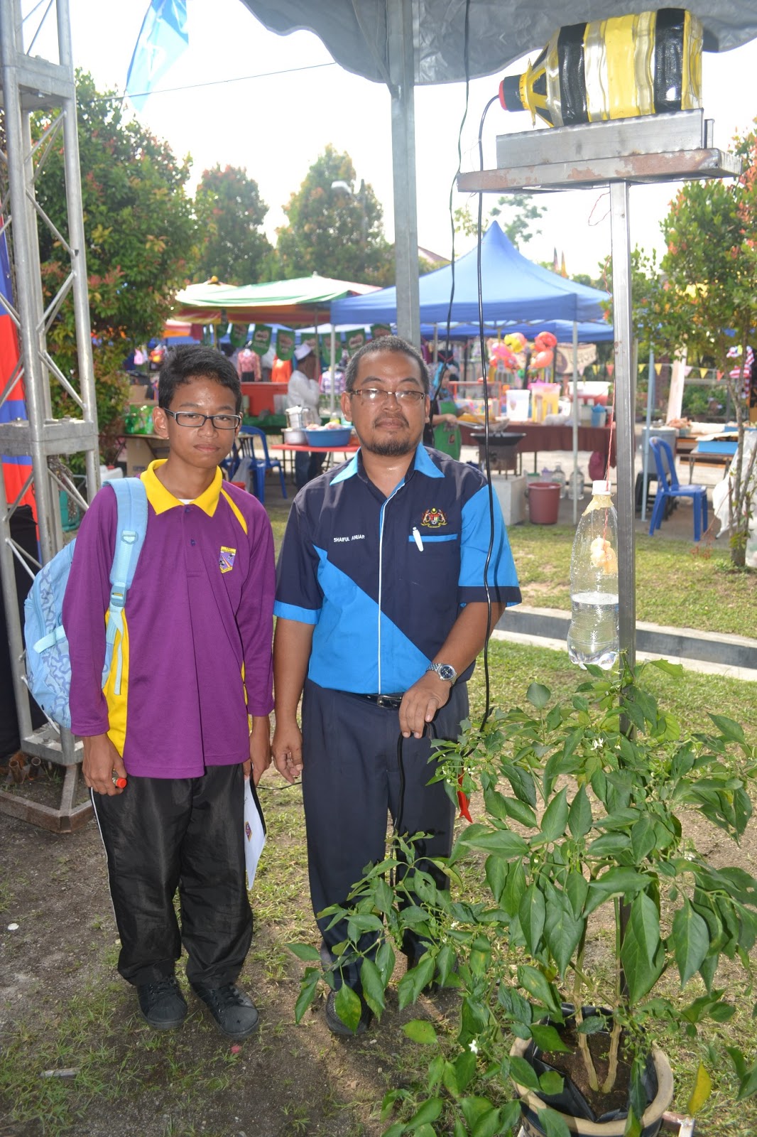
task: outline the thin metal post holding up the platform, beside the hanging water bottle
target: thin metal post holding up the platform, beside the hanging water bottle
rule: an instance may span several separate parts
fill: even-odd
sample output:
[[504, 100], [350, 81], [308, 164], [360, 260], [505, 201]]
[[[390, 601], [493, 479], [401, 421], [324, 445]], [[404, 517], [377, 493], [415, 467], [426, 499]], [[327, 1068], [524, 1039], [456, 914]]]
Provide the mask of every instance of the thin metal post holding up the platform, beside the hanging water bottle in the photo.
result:
[[615, 430], [617, 453], [618, 589], [621, 652], [635, 664], [635, 550], [633, 492], [633, 383], [631, 374], [631, 234], [629, 183], [610, 183], [613, 325], [615, 329]]

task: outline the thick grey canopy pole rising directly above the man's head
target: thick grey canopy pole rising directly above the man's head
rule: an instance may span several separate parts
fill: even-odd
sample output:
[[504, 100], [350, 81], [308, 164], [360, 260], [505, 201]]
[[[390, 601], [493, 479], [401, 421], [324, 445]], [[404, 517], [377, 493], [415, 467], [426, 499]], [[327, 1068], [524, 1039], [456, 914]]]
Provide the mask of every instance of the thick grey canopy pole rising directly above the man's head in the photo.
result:
[[397, 333], [419, 346], [413, 0], [388, 0], [386, 32], [392, 100]]

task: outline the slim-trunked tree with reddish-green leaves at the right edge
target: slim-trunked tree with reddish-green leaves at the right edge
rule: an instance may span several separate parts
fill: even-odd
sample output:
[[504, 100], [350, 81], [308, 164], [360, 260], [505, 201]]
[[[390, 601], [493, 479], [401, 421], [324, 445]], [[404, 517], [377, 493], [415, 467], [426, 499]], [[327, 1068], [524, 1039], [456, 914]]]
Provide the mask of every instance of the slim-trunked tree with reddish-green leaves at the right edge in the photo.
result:
[[[747, 462], [743, 449], [743, 364], [757, 324], [757, 134], [752, 130], [735, 143], [743, 161], [740, 177], [691, 181], [679, 191], [663, 222], [667, 242], [663, 269], [669, 285], [668, 334], [676, 345], [685, 345], [690, 356], [715, 359], [735, 407], [739, 441], [729, 499], [731, 559], [743, 566], [757, 455], [756, 448]], [[741, 349], [740, 367], [729, 358], [733, 347]], [[731, 379], [734, 365], [739, 375]]]

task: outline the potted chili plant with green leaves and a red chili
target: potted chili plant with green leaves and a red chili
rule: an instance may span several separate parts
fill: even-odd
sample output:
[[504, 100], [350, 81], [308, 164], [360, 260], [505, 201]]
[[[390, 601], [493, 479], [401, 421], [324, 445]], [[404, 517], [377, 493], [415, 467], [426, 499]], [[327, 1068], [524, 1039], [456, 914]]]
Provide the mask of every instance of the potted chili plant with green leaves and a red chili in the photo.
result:
[[[738, 841], [751, 814], [757, 750], [722, 715], [709, 716], [709, 731], [682, 731], [641, 686], [643, 667], [588, 671], [564, 703], [532, 683], [527, 708], [493, 711], [482, 725], [464, 723], [457, 742], [440, 744], [435, 778], [451, 796], [461, 789], [483, 799], [482, 819], [461, 830], [449, 860], [435, 862], [449, 891], [416, 861], [411, 839], [396, 839], [388, 861], [356, 886], [350, 908], [333, 910], [334, 920], [350, 921], [344, 953], [385, 928], [375, 960], [363, 965], [376, 1015], [392, 941], [401, 946], [410, 926], [429, 949], [399, 982], [400, 1007], [432, 981], [460, 993], [451, 1048], [430, 1022], [406, 1027], [438, 1053], [425, 1102], [388, 1137], [431, 1135], [424, 1126], [442, 1114], [449, 1129], [440, 1131], [456, 1137], [517, 1132], [522, 1120], [529, 1137], [652, 1137], [672, 1098], [658, 1038], [671, 1027], [693, 1036], [734, 1012], [716, 972], [722, 955], [749, 966], [757, 881], [712, 864], [685, 814], [696, 811], [698, 830], [715, 827]], [[314, 948], [296, 951], [317, 957]], [[323, 977], [306, 971], [298, 1016]], [[333, 986], [332, 974], [325, 979]], [[338, 1010], [357, 1023], [351, 991]], [[757, 1088], [755, 1070], [735, 1049], [731, 1056], [746, 1096]], [[692, 1077], [689, 1112], [709, 1092], [704, 1068]], [[508, 1099], [513, 1084], [523, 1119]], [[398, 1096], [389, 1095], [388, 1110]]]

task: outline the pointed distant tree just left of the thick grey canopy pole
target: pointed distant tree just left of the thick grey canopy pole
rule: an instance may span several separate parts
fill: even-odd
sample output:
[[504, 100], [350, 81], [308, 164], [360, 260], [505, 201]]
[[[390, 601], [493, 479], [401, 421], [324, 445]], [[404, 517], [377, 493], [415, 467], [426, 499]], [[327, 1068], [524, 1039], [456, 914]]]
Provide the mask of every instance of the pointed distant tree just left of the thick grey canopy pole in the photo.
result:
[[[334, 182], [346, 188], [334, 189]], [[280, 275], [318, 273], [369, 284], [393, 281], [394, 258], [384, 239], [381, 205], [369, 185], [353, 186], [350, 156], [327, 146], [284, 206], [289, 224], [276, 230]]]

